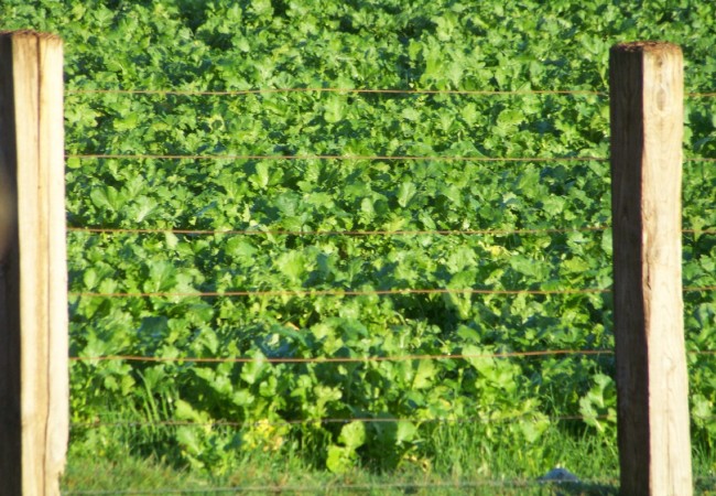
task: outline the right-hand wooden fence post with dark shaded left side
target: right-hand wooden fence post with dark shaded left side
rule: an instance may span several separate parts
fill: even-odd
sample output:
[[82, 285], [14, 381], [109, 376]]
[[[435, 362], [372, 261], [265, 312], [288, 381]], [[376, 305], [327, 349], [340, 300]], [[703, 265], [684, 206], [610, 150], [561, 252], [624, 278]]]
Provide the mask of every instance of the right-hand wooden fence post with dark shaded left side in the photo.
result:
[[612, 46], [609, 85], [620, 490], [690, 496], [681, 48]]

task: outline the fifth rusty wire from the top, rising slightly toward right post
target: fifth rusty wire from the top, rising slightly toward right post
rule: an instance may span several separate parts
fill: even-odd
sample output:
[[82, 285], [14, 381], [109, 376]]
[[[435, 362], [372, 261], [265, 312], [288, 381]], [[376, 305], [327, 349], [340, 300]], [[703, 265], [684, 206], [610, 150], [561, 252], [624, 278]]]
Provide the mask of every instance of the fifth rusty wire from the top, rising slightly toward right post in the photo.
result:
[[318, 357], [318, 358], [265, 358], [265, 357], [156, 357], [156, 356], [133, 356], [133, 355], [108, 355], [108, 356], [73, 356], [73, 362], [100, 362], [100, 360], [127, 360], [127, 362], [194, 362], [194, 363], [251, 363], [263, 362], [269, 364], [322, 364], [322, 363], [367, 363], [367, 362], [408, 362], [408, 360], [460, 360], [471, 358], [520, 358], [531, 356], [552, 355], [612, 355], [611, 349], [554, 349], [541, 352], [506, 352], [484, 353], [467, 355], [399, 355], [399, 356], [365, 356], [365, 357]]

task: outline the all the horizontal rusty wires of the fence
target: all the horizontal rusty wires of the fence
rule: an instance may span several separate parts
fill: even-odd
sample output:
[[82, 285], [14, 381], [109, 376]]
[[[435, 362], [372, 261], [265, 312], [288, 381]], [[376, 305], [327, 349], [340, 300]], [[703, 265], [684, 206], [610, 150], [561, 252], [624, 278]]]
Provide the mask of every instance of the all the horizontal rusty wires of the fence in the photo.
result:
[[[525, 96], [525, 95], [566, 95], [566, 96], [593, 96], [607, 97], [605, 91], [596, 90], [433, 90], [433, 89], [376, 89], [376, 88], [259, 88], [242, 90], [183, 90], [183, 89], [69, 89], [69, 96], [83, 95], [149, 95], [149, 96], [208, 96], [208, 97], [231, 97], [246, 95], [269, 95], [289, 93], [336, 93], [336, 94], [377, 94], [377, 95], [446, 95], [446, 96]], [[690, 98], [713, 98], [716, 93], [691, 93]], [[468, 157], [468, 155], [370, 155], [370, 154], [171, 154], [171, 153], [67, 153], [67, 159], [76, 160], [192, 160], [192, 161], [442, 161], [442, 162], [485, 162], [485, 163], [550, 163], [550, 162], [607, 162], [607, 157], [581, 157], [577, 153], [562, 157]], [[716, 158], [688, 157], [685, 162], [716, 162]], [[608, 226], [582, 226], [573, 228], [539, 228], [539, 229], [366, 229], [366, 230], [292, 230], [252, 227], [251, 229], [184, 229], [184, 228], [117, 228], [102, 226], [68, 226], [74, 234], [105, 234], [105, 235], [155, 235], [174, 234], [186, 236], [349, 236], [349, 237], [386, 237], [386, 236], [527, 236], [527, 235], [558, 235], [569, 233], [601, 233], [609, 229]], [[683, 229], [683, 234], [714, 235], [713, 228]], [[684, 288], [684, 292], [713, 292], [714, 285], [691, 285]], [[456, 295], [571, 295], [571, 294], [608, 294], [610, 289], [605, 288], [566, 288], [566, 289], [479, 289], [479, 288], [408, 288], [408, 289], [381, 289], [381, 290], [352, 290], [352, 289], [275, 289], [275, 290], [246, 290], [246, 291], [127, 291], [127, 292], [101, 292], [101, 291], [70, 291], [69, 295], [82, 299], [131, 299], [131, 298], [314, 298], [314, 296], [365, 296], [365, 295], [410, 295], [410, 294], [456, 294]], [[692, 355], [715, 355], [716, 351], [701, 349], [690, 352]], [[137, 363], [196, 363], [196, 364], [367, 364], [380, 362], [406, 362], [406, 360], [470, 360], [470, 359], [519, 359], [540, 357], [569, 357], [569, 356], [611, 356], [611, 349], [544, 349], [525, 352], [497, 352], [481, 354], [405, 354], [389, 356], [317, 356], [317, 357], [248, 357], [248, 356], [140, 356], [140, 355], [96, 355], [96, 356], [72, 356], [73, 363], [100, 363], [110, 360], [137, 362]], [[551, 422], [562, 421], [595, 421], [614, 420], [612, 416], [597, 414], [586, 416], [544, 416], [534, 411], [520, 416], [500, 416], [488, 413], [482, 416], [463, 418], [397, 418], [397, 417], [351, 417], [351, 418], [319, 418], [319, 419], [284, 419], [281, 421], [257, 419], [246, 421], [218, 420], [211, 422], [185, 421], [175, 419], [163, 419], [154, 421], [76, 421], [72, 423], [73, 429], [95, 428], [177, 428], [177, 427], [209, 427], [209, 428], [235, 428], [242, 429], [256, 427], [259, 423], [272, 427], [292, 425], [322, 425], [322, 424], [346, 424], [350, 422], [361, 423], [496, 423], [511, 422], [519, 419], [527, 419], [534, 416], [542, 416]], [[527, 487], [532, 485], [546, 484], [543, 481], [484, 481], [465, 483], [393, 483], [393, 484], [346, 484], [340, 483], [336, 487], [341, 490], [380, 490], [401, 489], [415, 490], [427, 488], [455, 488], [474, 489], [482, 486], [492, 487]], [[607, 484], [614, 486], [616, 481], [605, 479], [594, 483], [582, 484]], [[240, 486], [240, 487], [202, 487], [197, 489], [161, 488], [155, 490], [70, 490], [65, 494], [77, 495], [101, 495], [101, 494], [192, 494], [192, 493], [237, 493], [237, 492], [297, 492], [311, 493], [323, 492], [325, 487], [304, 487], [290, 485], [263, 485], [263, 486]]]

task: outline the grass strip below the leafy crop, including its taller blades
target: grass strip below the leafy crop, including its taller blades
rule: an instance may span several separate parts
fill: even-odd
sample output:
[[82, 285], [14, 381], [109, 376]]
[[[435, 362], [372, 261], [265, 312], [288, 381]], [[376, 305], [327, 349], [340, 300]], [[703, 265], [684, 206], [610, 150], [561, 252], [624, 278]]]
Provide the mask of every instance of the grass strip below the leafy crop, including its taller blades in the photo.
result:
[[[246, 453], [226, 473], [191, 468], [156, 456], [142, 459], [129, 448], [106, 453], [73, 445], [62, 482], [63, 495], [617, 495], [618, 453], [605, 434], [565, 435], [545, 432], [534, 445], [498, 446], [473, 439], [477, 425], [444, 425], [428, 441], [433, 459], [410, 453], [398, 468], [376, 471], [356, 466], [336, 475], [311, 455], [295, 450]], [[96, 440], [94, 440], [96, 442]], [[113, 443], [115, 445], [117, 443]], [[583, 483], [539, 481], [562, 466]], [[716, 495], [716, 459], [694, 450], [695, 494]]]

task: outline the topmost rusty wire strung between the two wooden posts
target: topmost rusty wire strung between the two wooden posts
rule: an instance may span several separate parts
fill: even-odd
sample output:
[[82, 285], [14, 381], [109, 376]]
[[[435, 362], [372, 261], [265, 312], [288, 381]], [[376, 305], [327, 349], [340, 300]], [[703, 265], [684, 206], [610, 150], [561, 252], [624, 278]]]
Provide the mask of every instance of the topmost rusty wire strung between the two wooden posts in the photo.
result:
[[[606, 91], [592, 89], [397, 89], [397, 88], [260, 88], [204, 91], [194, 89], [67, 89], [68, 95], [175, 95], [175, 96], [241, 96], [276, 93], [352, 93], [384, 95], [596, 95], [607, 96]], [[706, 96], [704, 94], [703, 96]]]

